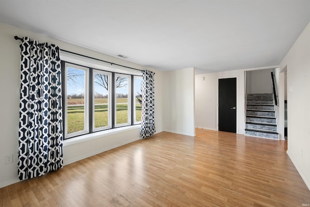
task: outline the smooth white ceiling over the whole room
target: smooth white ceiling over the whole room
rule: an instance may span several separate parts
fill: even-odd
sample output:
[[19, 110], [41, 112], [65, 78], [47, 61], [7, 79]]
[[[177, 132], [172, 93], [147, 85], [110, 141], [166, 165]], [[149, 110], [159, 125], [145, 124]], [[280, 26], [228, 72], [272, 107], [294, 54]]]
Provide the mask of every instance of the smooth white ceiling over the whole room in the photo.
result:
[[160, 70], [278, 65], [310, 0], [0, 0], [0, 21]]

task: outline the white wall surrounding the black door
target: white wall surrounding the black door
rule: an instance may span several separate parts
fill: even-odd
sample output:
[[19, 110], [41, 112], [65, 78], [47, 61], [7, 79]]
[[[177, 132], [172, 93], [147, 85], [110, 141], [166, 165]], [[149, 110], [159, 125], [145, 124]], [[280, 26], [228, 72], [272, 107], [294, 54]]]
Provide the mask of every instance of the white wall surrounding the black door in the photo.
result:
[[[204, 77], [204, 80], [203, 80]], [[237, 78], [237, 129], [245, 131], [245, 70], [195, 75], [195, 126], [217, 130], [218, 79]]]

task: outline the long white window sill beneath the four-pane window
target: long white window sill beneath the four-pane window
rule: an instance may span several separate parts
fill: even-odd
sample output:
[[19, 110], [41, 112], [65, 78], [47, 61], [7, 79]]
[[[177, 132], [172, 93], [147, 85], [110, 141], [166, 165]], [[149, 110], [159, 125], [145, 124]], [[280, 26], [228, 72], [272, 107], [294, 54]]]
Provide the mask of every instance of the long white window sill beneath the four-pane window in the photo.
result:
[[72, 144], [86, 142], [89, 140], [102, 138], [103, 136], [109, 136], [112, 134], [117, 134], [117, 133], [120, 133], [123, 131], [129, 131], [129, 130], [133, 130], [133, 129], [140, 128], [140, 127], [141, 127], [141, 125], [134, 125], [134, 126], [128, 126], [128, 127], [119, 127], [119, 128], [107, 129], [104, 131], [98, 131], [98, 132], [94, 132], [91, 134], [85, 134], [85, 135], [81, 135], [78, 137], [69, 138], [69, 139], [63, 140], [62, 143], [63, 143], [63, 146], [69, 146]]

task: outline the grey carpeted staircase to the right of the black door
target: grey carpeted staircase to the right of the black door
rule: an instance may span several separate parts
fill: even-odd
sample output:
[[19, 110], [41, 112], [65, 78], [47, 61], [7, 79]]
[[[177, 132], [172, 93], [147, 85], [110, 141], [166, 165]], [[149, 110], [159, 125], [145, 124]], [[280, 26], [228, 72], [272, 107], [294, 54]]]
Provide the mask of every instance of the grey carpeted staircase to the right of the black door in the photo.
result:
[[245, 134], [279, 139], [273, 94], [248, 94]]

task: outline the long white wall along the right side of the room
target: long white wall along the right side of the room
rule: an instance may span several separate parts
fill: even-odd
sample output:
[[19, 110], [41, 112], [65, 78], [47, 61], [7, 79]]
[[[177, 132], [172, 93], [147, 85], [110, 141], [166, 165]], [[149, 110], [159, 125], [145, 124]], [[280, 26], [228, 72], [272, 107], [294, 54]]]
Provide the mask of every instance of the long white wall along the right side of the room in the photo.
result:
[[[287, 67], [288, 150], [299, 174], [310, 189], [310, 24], [279, 65]], [[284, 74], [280, 85], [284, 85]], [[280, 101], [284, 87], [279, 88]], [[279, 111], [284, 117], [283, 105]]]

